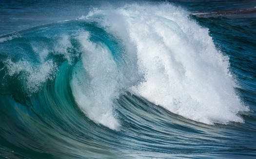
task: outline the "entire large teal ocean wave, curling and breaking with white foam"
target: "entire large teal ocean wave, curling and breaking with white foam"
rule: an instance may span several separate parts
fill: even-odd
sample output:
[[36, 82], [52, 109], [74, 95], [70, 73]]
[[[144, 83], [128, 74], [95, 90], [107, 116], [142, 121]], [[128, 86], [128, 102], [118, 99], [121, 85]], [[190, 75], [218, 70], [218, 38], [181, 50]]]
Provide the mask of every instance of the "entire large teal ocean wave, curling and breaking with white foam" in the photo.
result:
[[[82, 157], [81, 149], [86, 149], [87, 157], [97, 151], [96, 158], [110, 152], [116, 155], [108, 157], [116, 158], [121, 152], [113, 147], [123, 143], [111, 142], [115, 136], [110, 132], [128, 131], [126, 141], [136, 149], [142, 139], [131, 129], [141, 129], [152, 140], [154, 134], [147, 131], [152, 123], [159, 130], [155, 133], [169, 134], [170, 118], [173, 127], [199, 122], [196, 127], [204, 129], [244, 123], [242, 115], [249, 111], [236, 92], [239, 83], [229, 58], [216, 48], [209, 30], [169, 3], [91, 8], [78, 19], [0, 39], [1, 125], [6, 126], [1, 136], [18, 147], [70, 157]], [[185, 131], [197, 132], [192, 126]], [[31, 138], [24, 136], [28, 132]], [[49, 138], [52, 143], [39, 143]], [[188, 138], [185, 134], [176, 140]], [[144, 149], [151, 144], [146, 140], [140, 141]], [[161, 140], [154, 145], [163, 148]]]

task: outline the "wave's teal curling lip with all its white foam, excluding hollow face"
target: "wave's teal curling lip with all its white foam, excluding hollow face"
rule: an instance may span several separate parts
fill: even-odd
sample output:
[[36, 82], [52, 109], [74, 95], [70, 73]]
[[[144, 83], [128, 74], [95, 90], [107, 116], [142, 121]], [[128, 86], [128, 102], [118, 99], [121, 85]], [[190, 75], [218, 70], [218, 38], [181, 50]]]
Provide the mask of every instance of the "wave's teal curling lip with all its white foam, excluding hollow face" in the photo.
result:
[[126, 91], [205, 124], [242, 123], [239, 113], [249, 110], [235, 92], [228, 57], [188, 15], [170, 4], [94, 8], [77, 20], [6, 36], [1, 43], [22, 47], [26, 39], [29, 46], [3, 62], [7, 75], [18, 75], [30, 93], [68, 62], [79, 108], [112, 129], [120, 126], [116, 100]]

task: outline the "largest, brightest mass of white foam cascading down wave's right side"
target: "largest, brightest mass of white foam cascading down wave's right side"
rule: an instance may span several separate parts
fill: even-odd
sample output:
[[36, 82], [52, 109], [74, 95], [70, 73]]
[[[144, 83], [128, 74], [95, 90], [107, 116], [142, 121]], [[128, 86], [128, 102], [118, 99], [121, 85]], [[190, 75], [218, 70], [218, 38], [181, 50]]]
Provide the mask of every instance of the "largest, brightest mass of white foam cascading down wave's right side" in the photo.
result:
[[83, 18], [95, 19], [124, 45], [134, 43], [135, 49], [127, 54], [136, 54], [144, 78], [130, 86], [133, 93], [198, 122], [243, 122], [238, 113], [248, 108], [236, 95], [229, 59], [215, 48], [208, 29], [190, 20], [188, 12], [168, 3], [134, 4], [95, 9]]

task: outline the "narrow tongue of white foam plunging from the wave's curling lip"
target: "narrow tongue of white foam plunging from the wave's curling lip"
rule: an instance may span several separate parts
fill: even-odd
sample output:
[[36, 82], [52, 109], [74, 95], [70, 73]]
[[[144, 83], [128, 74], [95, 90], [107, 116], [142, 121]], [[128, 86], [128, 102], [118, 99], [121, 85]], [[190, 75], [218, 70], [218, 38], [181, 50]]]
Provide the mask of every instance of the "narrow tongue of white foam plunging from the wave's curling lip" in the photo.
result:
[[102, 43], [89, 40], [88, 32], [80, 32], [81, 61], [76, 65], [71, 88], [81, 108], [92, 120], [112, 129], [119, 123], [113, 113], [113, 99], [118, 97], [118, 68], [111, 51]]

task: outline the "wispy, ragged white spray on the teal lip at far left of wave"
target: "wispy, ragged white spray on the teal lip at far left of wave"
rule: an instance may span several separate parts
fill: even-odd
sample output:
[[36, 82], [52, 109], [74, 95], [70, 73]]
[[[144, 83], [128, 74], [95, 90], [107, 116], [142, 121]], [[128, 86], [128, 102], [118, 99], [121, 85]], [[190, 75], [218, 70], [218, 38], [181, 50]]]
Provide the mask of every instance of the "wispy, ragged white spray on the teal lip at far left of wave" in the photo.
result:
[[[10, 40], [11, 38], [12, 37], [10, 37]], [[53, 79], [56, 74], [56, 70], [58, 69], [57, 64], [55, 64], [54, 59], [48, 59], [50, 53], [63, 55], [63, 59], [67, 60], [69, 64], [72, 63], [74, 56], [78, 56], [70, 52], [73, 46], [68, 35], [63, 35], [57, 43], [54, 44], [53, 48], [49, 48], [47, 44], [38, 43], [37, 41], [31, 42], [31, 46], [34, 54], [39, 57], [39, 63], [34, 63], [29, 57], [17, 62], [13, 62], [11, 59], [5, 61], [8, 75], [13, 76], [22, 72], [20, 78], [25, 80], [28, 92], [31, 93], [37, 92], [44, 82], [48, 79]]]

